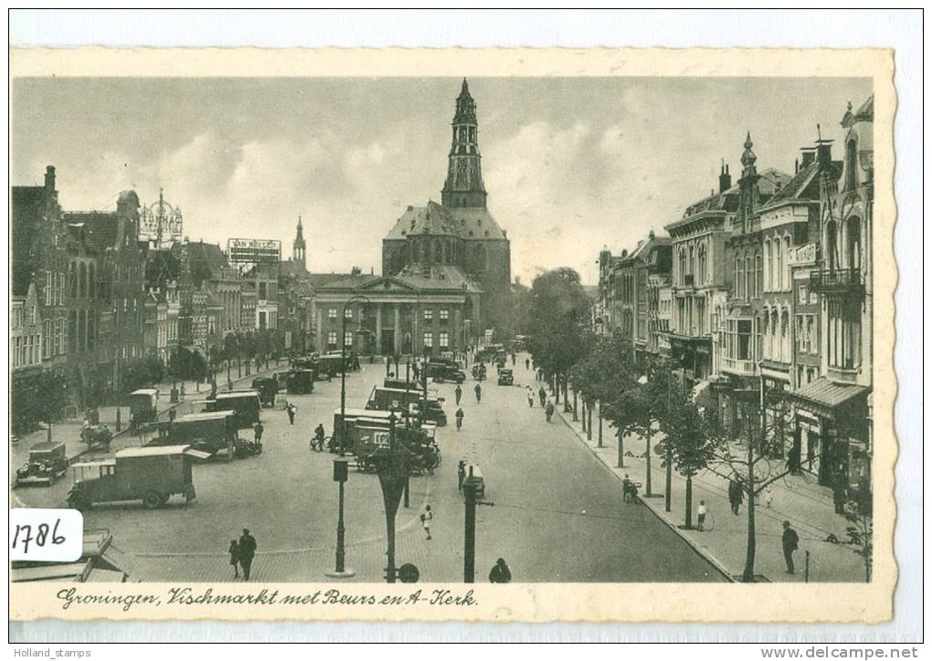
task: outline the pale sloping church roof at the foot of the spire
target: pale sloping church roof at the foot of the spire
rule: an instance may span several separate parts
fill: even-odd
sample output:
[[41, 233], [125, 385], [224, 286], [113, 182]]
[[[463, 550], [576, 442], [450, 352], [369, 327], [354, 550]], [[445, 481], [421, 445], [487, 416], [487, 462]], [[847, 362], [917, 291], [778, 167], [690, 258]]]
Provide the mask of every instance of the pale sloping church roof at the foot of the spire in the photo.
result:
[[423, 207], [408, 207], [385, 238], [404, 239], [411, 235], [507, 238], [485, 207], [451, 208], [433, 200]]

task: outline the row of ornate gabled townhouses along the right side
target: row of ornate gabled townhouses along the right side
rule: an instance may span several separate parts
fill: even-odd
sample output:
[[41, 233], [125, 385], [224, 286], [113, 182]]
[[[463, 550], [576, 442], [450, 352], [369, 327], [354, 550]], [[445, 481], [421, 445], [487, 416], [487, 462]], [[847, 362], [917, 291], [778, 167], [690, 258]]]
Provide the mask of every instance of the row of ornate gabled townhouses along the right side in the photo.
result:
[[779, 429], [776, 456], [861, 493], [873, 443], [872, 123], [872, 97], [849, 104], [842, 159], [820, 139], [792, 173], [759, 170], [748, 134], [737, 181], [723, 164], [718, 190], [667, 224], [669, 237], [600, 253], [595, 317], [636, 355], [668, 357], [736, 440], [747, 425]]

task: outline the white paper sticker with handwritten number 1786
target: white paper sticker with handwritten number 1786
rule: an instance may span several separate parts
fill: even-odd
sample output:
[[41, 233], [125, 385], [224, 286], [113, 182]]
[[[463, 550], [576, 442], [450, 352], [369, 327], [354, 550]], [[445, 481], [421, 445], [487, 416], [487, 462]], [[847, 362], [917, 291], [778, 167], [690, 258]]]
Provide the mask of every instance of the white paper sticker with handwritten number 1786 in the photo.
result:
[[9, 559], [74, 562], [84, 553], [84, 515], [76, 509], [14, 507], [9, 511]]

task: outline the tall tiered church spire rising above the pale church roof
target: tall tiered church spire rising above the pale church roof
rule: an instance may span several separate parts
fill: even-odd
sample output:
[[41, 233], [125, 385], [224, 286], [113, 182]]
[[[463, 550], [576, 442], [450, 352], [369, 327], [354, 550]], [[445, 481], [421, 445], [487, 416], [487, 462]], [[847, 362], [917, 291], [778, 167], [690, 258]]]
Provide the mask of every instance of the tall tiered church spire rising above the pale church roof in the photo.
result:
[[479, 125], [475, 118], [475, 101], [469, 85], [463, 85], [453, 115], [453, 145], [450, 147], [441, 202], [445, 207], [486, 207], [486, 184], [482, 182], [482, 156], [479, 155]]

